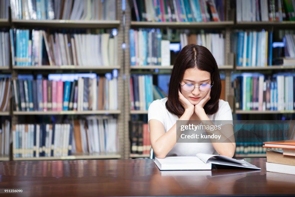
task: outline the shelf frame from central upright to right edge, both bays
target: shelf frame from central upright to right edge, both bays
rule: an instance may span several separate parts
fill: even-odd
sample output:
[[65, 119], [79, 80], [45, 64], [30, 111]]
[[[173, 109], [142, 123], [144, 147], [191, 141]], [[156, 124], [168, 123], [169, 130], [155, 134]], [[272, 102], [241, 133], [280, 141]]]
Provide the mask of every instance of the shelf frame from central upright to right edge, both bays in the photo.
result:
[[[125, 41], [129, 43], [129, 36], [127, 35], [131, 28], [160, 28], [160, 29], [222, 29], [225, 31], [225, 64], [224, 66], [219, 66], [219, 70], [222, 70], [225, 73], [225, 100], [230, 103], [233, 114], [286, 114], [287, 116], [295, 113], [294, 110], [282, 110], [282, 111], [256, 111], [256, 110], [237, 110], [235, 109], [235, 98], [234, 98], [234, 88], [231, 86], [231, 72], [263, 72], [263, 73], [273, 73], [273, 72], [290, 72], [294, 71], [295, 65], [291, 66], [283, 66], [283, 65], [272, 65], [265, 67], [238, 67], [236, 66], [236, 62], [234, 60], [234, 56], [230, 54], [230, 45], [231, 45], [231, 33], [235, 30], [271, 30], [271, 29], [294, 29], [295, 21], [273, 21], [273, 22], [264, 22], [264, 21], [253, 21], [253, 22], [236, 22], [235, 19], [235, 8], [234, 10], [229, 5], [229, 1], [226, 1], [226, 21], [221, 22], [147, 22], [147, 21], [132, 21], [131, 20], [131, 10], [128, 5], [129, 2], [126, 2], [126, 27], [125, 27]], [[179, 41], [173, 40], [173, 43], [177, 43]], [[126, 76], [131, 76], [131, 73], [135, 74], [157, 74], [157, 73], [165, 73], [167, 74], [169, 70], [173, 68], [173, 65], [170, 66], [130, 66], [130, 50], [126, 48], [126, 58], [125, 58], [125, 73]], [[149, 70], [149, 71], [147, 71]], [[153, 72], [152, 70], [161, 70]], [[167, 70], [167, 72], [166, 72]], [[128, 90], [128, 82], [125, 84], [125, 89]], [[125, 94], [125, 112], [126, 112], [126, 120], [125, 120], [125, 155], [129, 155], [130, 158], [140, 157], [148, 157], [147, 155], [137, 155], [130, 154], [130, 141], [129, 141], [129, 128], [128, 121], [132, 115], [138, 115], [140, 117], [146, 116], [148, 114], [147, 110], [130, 110], [129, 103], [129, 93]], [[129, 112], [129, 114], [127, 113]], [[266, 157], [266, 154], [236, 154], [236, 157]]]

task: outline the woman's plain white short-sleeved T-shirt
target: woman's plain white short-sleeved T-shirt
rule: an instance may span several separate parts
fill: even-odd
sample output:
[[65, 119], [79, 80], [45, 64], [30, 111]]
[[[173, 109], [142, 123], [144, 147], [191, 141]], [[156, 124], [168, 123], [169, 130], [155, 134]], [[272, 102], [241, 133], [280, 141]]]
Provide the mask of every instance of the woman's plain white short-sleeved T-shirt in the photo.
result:
[[[166, 109], [167, 98], [153, 101], [148, 109], [148, 122], [152, 119], [162, 122], [165, 133], [179, 120], [177, 115]], [[219, 99], [219, 109], [215, 114], [207, 115], [210, 120], [230, 120], [232, 110], [227, 101]], [[166, 156], [196, 156], [197, 153], [217, 154], [212, 143], [176, 143]]]

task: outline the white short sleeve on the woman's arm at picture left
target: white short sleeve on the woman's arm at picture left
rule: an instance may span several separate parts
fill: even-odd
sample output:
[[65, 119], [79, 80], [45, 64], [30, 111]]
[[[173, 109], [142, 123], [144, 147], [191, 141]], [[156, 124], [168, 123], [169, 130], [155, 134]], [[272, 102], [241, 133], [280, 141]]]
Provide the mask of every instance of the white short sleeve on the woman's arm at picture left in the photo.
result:
[[160, 100], [153, 101], [148, 108], [148, 122], [152, 119], [158, 120], [164, 124], [166, 107]]

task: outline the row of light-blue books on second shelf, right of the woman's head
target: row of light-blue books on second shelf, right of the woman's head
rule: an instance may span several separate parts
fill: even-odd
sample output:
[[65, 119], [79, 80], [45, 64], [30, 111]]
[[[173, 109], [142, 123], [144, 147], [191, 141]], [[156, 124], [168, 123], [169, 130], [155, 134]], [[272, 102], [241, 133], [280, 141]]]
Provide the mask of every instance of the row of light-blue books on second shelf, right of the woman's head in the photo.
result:
[[237, 66], [265, 67], [272, 65], [273, 32], [239, 31], [232, 34]]

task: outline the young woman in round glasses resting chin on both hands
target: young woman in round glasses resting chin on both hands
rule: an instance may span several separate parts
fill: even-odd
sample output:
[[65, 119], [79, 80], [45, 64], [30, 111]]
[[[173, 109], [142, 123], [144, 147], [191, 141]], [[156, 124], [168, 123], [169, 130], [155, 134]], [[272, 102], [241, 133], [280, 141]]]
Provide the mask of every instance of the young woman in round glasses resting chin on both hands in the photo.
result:
[[[235, 153], [232, 112], [228, 102], [219, 99], [220, 93], [219, 70], [211, 52], [193, 44], [183, 47], [173, 66], [168, 97], [153, 101], [148, 109], [150, 141], [155, 156], [164, 158], [217, 152], [232, 157]], [[230, 124], [206, 132], [221, 134], [230, 140], [226, 143], [176, 143], [177, 136], [179, 138], [177, 120], [198, 120], [203, 125], [208, 125], [208, 121], [213, 125], [211, 120], [228, 120]]]

